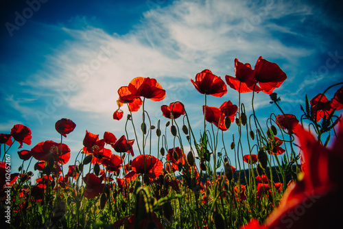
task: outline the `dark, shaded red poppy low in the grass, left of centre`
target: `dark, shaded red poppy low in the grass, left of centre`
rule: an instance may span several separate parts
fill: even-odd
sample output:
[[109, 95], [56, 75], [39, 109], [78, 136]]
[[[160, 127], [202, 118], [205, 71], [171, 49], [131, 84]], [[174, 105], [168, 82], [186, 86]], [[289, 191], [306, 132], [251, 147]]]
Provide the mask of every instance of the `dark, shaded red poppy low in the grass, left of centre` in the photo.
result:
[[94, 173], [87, 173], [82, 180], [86, 184], [84, 189], [84, 197], [87, 199], [93, 199], [104, 191], [105, 184], [102, 184], [105, 173], [99, 178]]

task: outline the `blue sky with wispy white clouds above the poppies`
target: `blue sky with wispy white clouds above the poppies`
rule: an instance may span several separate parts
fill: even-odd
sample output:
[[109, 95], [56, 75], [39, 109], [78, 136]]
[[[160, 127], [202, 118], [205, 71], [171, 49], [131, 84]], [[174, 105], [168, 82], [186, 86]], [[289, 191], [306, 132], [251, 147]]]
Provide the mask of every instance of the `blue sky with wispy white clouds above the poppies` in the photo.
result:
[[[147, 101], [154, 125], [158, 119], [163, 125], [167, 121], [161, 105], [178, 100], [185, 104], [195, 132], [202, 128], [204, 98], [190, 79], [204, 69], [222, 78], [234, 75], [235, 58], [252, 67], [259, 56], [279, 64], [287, 80], [274, 92], [281, 96], [284, 111], [298, 118], [305, 94], [314, 97], [343, 81], [343, 12], [338, 1], [0, 4], [0, 132], [9, 133], [16, 123], [27, 125], [32, 145], [23, 149], [60, 141], [54, 125], [63, 117], [77, 125], [63, 140], [72, 155], [82, 148], [86, 130], [100, 137], [110, 131], [119, 138], [125, 134], [125, 121], [112, 119], [117, 89], [137, 76], [154, 77], [167, 91], [165, 100]], [[251, 96], [241, 96], [248, 114]], [[220, 106], [228, 99], [238, 103], [237, 92], [229, 87], [224, 97], [209, 97], [208, 105]], [[280, 114], [269, 101], [263, 93], [255, 97], [263, 122], [271, 112]], [[141, 110], [134, 117], [137, 126], [140, 118]], [[226, 137], [232, 139], [232, 133]], [[16, 145], [10, 154], [14, 168], [19, 167]]]

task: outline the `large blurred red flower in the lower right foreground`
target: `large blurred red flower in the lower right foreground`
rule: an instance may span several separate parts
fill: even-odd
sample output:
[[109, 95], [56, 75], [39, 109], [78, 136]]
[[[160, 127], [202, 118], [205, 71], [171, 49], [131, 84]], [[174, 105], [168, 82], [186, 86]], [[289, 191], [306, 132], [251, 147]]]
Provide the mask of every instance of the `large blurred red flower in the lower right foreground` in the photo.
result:
[[279, 206], [259, 226], [256, 219], [242, 228], [341, 228], [343, 205], [343, 121], [331, 148], [298, 126], [303, 151], [303, 176], [284, 193]]

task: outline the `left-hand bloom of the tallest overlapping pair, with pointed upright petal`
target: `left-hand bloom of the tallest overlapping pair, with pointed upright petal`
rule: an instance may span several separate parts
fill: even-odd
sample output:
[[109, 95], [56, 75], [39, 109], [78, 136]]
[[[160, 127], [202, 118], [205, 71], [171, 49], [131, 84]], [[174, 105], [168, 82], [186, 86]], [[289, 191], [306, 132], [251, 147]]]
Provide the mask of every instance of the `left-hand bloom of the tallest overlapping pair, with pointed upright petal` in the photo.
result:
[[255, 71], [251, 69], [250, 64], [243, 64], [235, 58], [235, 76], [225, 75], [225, 80], [230, 88], [239, 93], [248, 93], [251, 91], [259, 92], [261, 88], [257, 86]]

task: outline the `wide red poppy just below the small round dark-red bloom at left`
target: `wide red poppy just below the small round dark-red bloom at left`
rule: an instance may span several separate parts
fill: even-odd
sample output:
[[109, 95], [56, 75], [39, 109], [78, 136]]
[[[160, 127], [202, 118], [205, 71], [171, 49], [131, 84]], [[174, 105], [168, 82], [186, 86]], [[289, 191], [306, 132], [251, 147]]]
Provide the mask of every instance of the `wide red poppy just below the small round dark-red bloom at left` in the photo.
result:
[[43, 141], [35, 145], [31, 149], [31, 154], [36, 160], [48, 161], [50, 156], [54, 160], [64, 165], [70, 159], [70, 149], [64, 143], [56, 143], [54, 141]]

